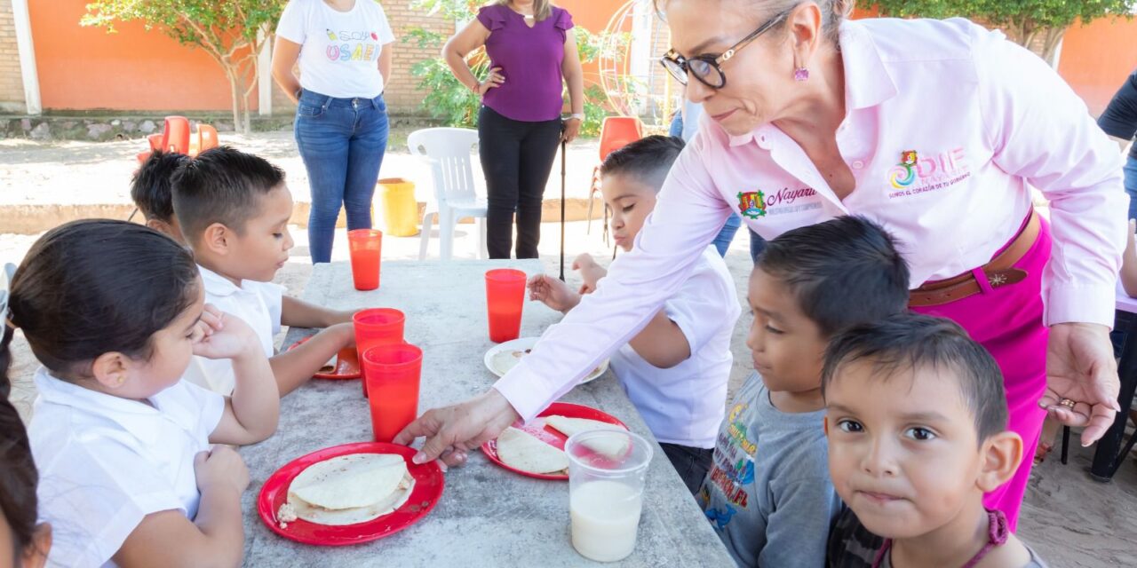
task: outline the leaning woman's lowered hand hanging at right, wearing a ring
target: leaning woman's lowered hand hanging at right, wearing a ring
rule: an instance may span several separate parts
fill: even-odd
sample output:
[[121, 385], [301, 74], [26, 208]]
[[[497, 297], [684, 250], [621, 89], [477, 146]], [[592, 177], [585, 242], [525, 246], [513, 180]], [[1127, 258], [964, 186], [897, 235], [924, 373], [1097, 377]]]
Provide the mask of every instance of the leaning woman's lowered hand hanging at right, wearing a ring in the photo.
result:
[[1046, 394], [1038, 406], [1067, 426], [1085, 426], [1082, 446], [1101, 438], [1113, 425], [1114, 415], [1121, 410], [1120, 390], [1107, 327], [1076, 323], [1051, 326]]

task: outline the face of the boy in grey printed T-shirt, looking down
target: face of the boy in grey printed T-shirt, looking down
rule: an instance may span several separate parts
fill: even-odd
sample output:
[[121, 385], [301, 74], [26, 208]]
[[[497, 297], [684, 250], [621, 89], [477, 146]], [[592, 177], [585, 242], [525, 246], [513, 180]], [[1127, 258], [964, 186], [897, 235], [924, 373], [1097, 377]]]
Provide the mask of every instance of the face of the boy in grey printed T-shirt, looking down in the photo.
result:
[[750, 274], [754, 323], [746, 346], [754, 369], [771, 391], [807, 392], [821, 387], [821, 367], [829, 339], [797, 306], [778, 278], [755, 268]]

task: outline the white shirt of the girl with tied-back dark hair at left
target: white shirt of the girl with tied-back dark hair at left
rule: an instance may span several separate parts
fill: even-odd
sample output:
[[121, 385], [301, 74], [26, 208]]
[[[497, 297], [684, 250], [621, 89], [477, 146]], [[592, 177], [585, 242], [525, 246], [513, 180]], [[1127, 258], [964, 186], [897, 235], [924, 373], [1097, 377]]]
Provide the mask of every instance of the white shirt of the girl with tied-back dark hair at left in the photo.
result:
[[148, 406], [35, 371], [28, 438], [40, 471], [40, 520], [51, 524], [50, 566], [114, 566], [150, 513], [198, 513], [193, 457], [209, 450], [225, 399], [181, 381]]

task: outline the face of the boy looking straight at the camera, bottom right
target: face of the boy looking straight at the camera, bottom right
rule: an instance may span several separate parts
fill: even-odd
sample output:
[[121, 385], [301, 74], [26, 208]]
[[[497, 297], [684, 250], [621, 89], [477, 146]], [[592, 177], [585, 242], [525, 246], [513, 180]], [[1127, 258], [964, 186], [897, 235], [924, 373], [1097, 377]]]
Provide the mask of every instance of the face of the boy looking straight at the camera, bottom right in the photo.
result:
[[825, 407], [833, 487], [872, 533], [918, 536], [980, 507], [989, 442], [979, 445], [954, 370], [882, 377], [872, 361], [846, 364]]

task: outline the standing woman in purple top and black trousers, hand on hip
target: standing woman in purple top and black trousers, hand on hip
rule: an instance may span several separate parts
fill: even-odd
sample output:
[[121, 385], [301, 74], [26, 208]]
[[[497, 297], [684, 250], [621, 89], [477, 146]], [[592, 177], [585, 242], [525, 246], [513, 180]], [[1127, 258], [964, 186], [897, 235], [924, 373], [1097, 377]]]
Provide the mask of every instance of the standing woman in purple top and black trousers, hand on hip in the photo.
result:
[[[572, 16], [549, 0], [497, 0], [442, 49], [454, 76], [482, 98], [479, 153], [489, 197], [490, 258], [509, 258], [517, 214], [517, 258], [537, 258], [541, 200], [561, 141], [584, 119], [584, 78]], [[466, 56], [485, 45], [490, 73], [479, 80]], [[561, 122], [562, 78], [572, 116]]]

